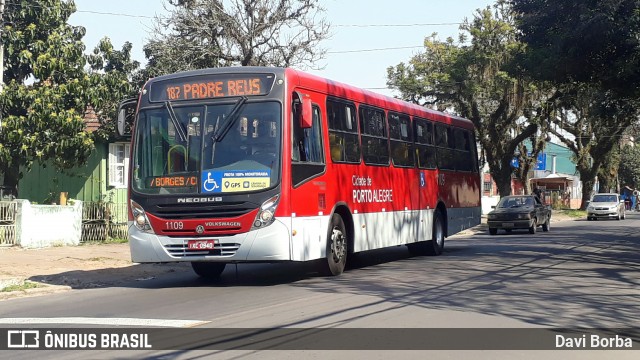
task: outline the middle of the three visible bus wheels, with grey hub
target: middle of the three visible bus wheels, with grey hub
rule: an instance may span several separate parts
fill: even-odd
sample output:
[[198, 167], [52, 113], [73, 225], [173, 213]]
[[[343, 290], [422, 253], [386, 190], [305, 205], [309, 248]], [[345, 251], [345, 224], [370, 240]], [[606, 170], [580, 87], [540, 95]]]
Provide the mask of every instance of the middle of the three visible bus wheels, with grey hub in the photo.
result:
[[327, 255], [323, 262], [323, 273], [325, 275], [337, 276], [342, 274], [347, 264], [348, 243], [347, 231], [342, 217], [338, 214], [333, 214], [327, 231]]

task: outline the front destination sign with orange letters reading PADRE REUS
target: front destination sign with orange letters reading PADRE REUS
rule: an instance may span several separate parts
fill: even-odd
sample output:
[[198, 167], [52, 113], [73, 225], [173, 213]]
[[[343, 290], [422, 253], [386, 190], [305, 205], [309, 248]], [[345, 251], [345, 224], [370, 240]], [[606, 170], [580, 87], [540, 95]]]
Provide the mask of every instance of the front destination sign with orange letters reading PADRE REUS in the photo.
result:
[[267, 95], [273, 74], [215, 74], [162, 80], [151, 84], [150, 101], [213, 99]]

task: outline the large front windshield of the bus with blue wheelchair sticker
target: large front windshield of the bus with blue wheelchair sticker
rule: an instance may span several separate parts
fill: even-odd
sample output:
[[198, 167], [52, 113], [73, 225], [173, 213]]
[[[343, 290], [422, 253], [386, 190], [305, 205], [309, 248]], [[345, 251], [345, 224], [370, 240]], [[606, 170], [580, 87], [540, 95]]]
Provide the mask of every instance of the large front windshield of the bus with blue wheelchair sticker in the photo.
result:
[[138, 115], [133, 190], [145, 194], [215, 194], [277, 185], [282, 118], [279, 103], [165, 105], [142, 109]]

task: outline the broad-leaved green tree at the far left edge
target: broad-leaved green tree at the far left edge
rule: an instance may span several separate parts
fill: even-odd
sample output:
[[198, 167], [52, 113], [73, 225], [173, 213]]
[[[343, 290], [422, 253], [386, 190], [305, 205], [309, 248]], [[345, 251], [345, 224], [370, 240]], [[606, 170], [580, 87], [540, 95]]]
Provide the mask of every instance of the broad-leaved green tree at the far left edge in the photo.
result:
[[5, 8], [0, 173], [16, 193], [23, 166], [51, 160], [67, 169], [93, 149], [83, 122], [85, 30], [67, 24], [74, 11], [73, 1], [60, 0], [16, 0]]

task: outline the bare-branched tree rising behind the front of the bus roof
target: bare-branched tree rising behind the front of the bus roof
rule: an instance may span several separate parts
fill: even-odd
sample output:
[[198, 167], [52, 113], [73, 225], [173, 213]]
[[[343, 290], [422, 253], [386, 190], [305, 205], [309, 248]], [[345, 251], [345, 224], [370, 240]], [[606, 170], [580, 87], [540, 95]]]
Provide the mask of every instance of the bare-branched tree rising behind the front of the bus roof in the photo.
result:
[[318, 0], [168, 0], [145, 45], [148, 76], [220, 66], [309, 66], [329, 34]]

